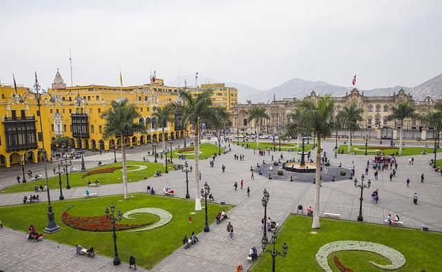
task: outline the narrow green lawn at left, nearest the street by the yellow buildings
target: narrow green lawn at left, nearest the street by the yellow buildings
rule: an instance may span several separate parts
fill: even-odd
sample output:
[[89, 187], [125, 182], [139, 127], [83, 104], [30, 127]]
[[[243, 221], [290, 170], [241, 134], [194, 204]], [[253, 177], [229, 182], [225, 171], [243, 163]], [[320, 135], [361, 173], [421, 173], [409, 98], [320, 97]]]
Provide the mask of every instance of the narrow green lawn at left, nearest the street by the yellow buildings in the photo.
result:
[[[138, 182], [144, 177], [153, 177], [153, 175], [156, 173], [156, 171], [161, 171], [164, 173], [164, 166], [162, 162], [158, 162], [157, 164], [153, 162], [137, 162], [137, 161], [127, 161], [128, 167], [127, 168], [127, 178], [128, 182]], [[53, 163], [52, 166], [57, 166], [57, 164]], [[95, 175], [89, 175], [87, 177], [83, 177], [83, 175], [91, 173], [93, 171], [96, 171], [97, 169], [101, 169], [102, 171], [106, 168], [113, 168], [113, 167], [121, 167], [122, 162], [117, 162], [116, 164], [106, 164], [104, 166], [98, 166], [94, 168], [88, 169], [86, 173], [81, 172], [74, 172], [69, 174], [69, 185], [70, 187], [81, 187], [81, 186], [87, 186], [88, 180], [90, 182], [95, 182], [95, 179], [99, 181], [99, 184], [114, 184], [114, 183], [122, 183], [123, 182], [123, 176], [122, 176], [122, 168], [117, 168], [111, 173], [97, 173]], [[50, 165], [49, 165], [50, 167]], [[146, 168], [144, 168], [146, 167]], [[144, 168], [144, 169], [143, 169]], [[173, 166], [168, 165], [168, 169], [173, 169]], [[50, 168], [48, 169], [50, 171]], [[57, 168], [58, 171], [58, 168]], [[1, 193], [17, 193], [17, 192], [26, 192], [26, 191], [34, 191], [34, 185], [37, 184], [37, 186], [40, 186], [42, 184], [43, 186], [46, 184], [46, 179], [44, 179], [44, 173], [43, 179], [37, 181], [37, 182], [30, 182], [30, 179], [28, 179], [28, 182], [25, 184], [17, 184], [13, 186], [9, 186], [6, 188], [3, 188], [1, 190]], [[66, 188], [66, 175], [61, 175], [61, 186], [63, 188]], [[59, 177], [58, 175], [55, 177], [49, 178], [49, 188], [56, 189], [59, 188]]]

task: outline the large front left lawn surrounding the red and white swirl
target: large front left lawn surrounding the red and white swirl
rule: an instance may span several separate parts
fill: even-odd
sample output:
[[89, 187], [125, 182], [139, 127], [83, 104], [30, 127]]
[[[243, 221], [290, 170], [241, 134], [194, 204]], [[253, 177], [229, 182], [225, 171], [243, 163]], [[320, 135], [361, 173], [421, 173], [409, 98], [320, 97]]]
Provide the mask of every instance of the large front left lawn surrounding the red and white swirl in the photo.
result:
[[[111, 197], [97, 197], [83, 200], [65, 200], [52, 203], [55, 211], [55, 221], [61, 230], [53, 234], [44, 234], [45, 239], [55, 240], [60, 243], [75, 246], [93, 246], [99, 255], [106, 255], [113, 258], [113, 238], [112, 232], [92, 232], [80, 231], [70, 228], [61, 222], [61, 213], [70, 210], [70, 215], [76, 216], [98, 216], [104, 215], [106, 207], [115, 204], [115, 211], [121, 210], [122, 213], [131, 211], [135, 208], [162, 208], [173, 215], [169, 224], [161, 226], [158, 229], [142, 232], [117, 232], [117, 246], [119, 258], [128, 262], [131, 255], [137, 258], [137, 264], [147, 269], [152, 269], [155, 264], [160, 262], [167, 255], [170, 255], [182, 246], [184, 235], [191, 235], [202, 232], [204, 227], [204, 210], [195, 215], [191, 215], [195, 206], [194, 201], [181, 200], [173, 197], [160, 197], [146, 194], [133, 194], [129, 200], [123, 200], [122, 195]], [[120, 202], [121, 201], [121, 202]], [[38, 233], [42, 233], [47, 224], [47, 204], [32, 204], [23, 206], [8, 206], [0, 208], [0, 217], [3, 224], [19, 231], [28, 231], [28, 226], [33, 224]], [[215, 221], [215, 215], [222, 209], [228, 211], [231, 206], [220, 206], [218, 204], [209, 205], [210, 221]], [[189, 216], [193, 218], [193, 224], [189, 224]], [[159, 218], [150, 214], [131, 215], [134, 220], [122, 220], [124, 224], [133, 224], [141, 222], [157, 222]], [[227, 224], [227, 223], [225, 223]], [[26, 234], [23, 233], [23, 239]], [[44, 241], [43, 241], [44, 242]], [[198, 245], [195, 245], [198, 246]], [[73, 249], [73, 256], [75, 249]]]

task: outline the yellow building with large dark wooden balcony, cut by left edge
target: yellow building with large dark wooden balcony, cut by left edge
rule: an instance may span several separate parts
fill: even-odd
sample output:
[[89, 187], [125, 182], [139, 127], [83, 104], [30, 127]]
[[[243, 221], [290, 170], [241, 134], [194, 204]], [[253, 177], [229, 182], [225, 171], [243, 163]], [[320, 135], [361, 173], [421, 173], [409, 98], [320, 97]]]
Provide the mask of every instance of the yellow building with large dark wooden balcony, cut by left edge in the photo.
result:
[[[41, 122], [36, 97], [29, 88], [0, 85], [0, 166], [37, 163], [44, 147], [50, 157], [50, 101], [41, 97]], [[43, 142], [44, 140], [44, 142]], [[43, 146], [44, 144], [44, 146]]]

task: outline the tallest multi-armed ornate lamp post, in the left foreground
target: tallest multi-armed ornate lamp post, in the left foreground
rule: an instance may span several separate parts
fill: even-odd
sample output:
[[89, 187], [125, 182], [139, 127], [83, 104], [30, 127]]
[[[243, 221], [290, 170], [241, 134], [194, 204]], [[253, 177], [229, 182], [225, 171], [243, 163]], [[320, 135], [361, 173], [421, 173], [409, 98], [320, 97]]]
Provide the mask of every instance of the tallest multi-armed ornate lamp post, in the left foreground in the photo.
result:
[[47, 158], [48, 153], [46, 152], [46, 149], [44, 147], [43, 125], [41, 122], [41, 99], [44, 99], [44, 95], [48, 95], [50, 97], [51, 103], [58, 101], [58, 99], [52, 97], [52, 95], [50, 95], [50, 93], [45, 92], [41, 88], [39, 81], [37, 80], [37, 72], [35, 72], [35, 84], [34, 84], [33, 90], [32, 91], [29, 90], [26, 93], [23, 93], [23, 95], [21, 95], [19, 101], [20, 101], [20, 103], [25, 103], [26, 98], [28, 98], [28, 97], [32, 97], [32, 99], [37, 101], [37, 108], [38, 108], [37, 115], [39, 116], [40, 132], [41, 132], [41, 145], [42, 145], [41, 153], [43, 153], [42, 159], [44, 162], [43, 163], [44, 164], [44, 173], [45, 173], [45, 177], [46, 177], [46, 193], [48, 193], [48, 225], [44, 229], [44, 232], [45, 233], [55, 233], [56, 231], [59, 231], [60, 226], [58, 226], [57, 223], [55, 222], [54, 212], [52, 211], [52, 205], [50, 204], [49, 183], [48, 183], [48, 166], [46, 166], [46, 161], [48, 160], [48, 158]]

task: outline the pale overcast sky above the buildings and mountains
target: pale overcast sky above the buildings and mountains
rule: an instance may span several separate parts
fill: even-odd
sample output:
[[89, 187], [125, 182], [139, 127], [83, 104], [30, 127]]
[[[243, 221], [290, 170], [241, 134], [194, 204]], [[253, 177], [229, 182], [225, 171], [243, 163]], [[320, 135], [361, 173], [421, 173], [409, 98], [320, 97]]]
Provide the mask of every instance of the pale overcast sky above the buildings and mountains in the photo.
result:
[[[73, 3], [75, 2], [75, 3]], [[189, 84], [195, 72], [262, 90], [298, 77], [362, 89], [442, 72], [442, 1], [4, 1], [0, 80]]]

